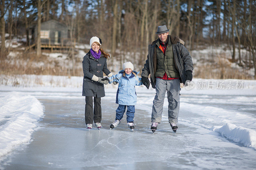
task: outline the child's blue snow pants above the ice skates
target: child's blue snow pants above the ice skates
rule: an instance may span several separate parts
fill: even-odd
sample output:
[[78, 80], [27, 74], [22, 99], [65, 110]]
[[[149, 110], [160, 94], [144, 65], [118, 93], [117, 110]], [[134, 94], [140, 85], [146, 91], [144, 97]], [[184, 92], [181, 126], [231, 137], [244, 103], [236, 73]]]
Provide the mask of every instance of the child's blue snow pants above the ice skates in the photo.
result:
[[[119, 105], [116, 109], [116, 119], [121, 120], [124, 116], [124, 112], [126, 109], [126, 105]], [[135, 113], [135, 106], [127, 106], [127, 111], [126, 111], [126, 121], [128, 122], [133, 122], [134, 118], [134, 113]]]

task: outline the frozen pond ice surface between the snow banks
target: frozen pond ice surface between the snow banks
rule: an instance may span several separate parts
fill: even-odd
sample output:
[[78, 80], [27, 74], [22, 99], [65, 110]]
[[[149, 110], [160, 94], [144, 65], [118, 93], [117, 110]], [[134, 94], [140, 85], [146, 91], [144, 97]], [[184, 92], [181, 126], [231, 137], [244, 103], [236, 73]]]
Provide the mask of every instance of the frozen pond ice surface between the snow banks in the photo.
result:
[[[25, 92], [24, 92], [25, 93]], [[116, 93], [101, 99], [102, 125], [85, 129], [81, 92], [26, 92], [44, 105], [44, 117], [32, 140], [1, 157], [0, 169], [253, 169], [256, 151], [212, 131], [223, 126], [231, 113], [256, 119], [256, 96], [181, 95], [177, 133], [167, 118], [167, 100], [161, 124], [150, 130], [154, 91], [137, 91], [135, 130], [126, 115], [116, 129]], [[221, 115], [222, 112], [225, 115]], [[227, 114], [226, 114], [227, 113]], [[226, 116], [226, 117], [225, 117]], [[230, 123], [256, 129], [254, 124]]]

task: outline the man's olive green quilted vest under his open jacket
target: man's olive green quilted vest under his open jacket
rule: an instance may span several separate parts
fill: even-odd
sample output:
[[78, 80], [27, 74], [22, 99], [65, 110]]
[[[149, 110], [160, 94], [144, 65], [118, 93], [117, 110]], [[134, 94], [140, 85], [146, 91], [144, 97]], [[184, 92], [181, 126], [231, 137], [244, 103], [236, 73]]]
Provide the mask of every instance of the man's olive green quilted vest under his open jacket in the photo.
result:
[[156, 42], [156, 73], [155, 77], [163, 77], [164, 73], [168, 78], [180, 78], [180, 74], [175, 66], [173, 59], [172, 44], [169, 42], [165, 50], [165, 56], [163, 51], [159, 48], [159, 40]]

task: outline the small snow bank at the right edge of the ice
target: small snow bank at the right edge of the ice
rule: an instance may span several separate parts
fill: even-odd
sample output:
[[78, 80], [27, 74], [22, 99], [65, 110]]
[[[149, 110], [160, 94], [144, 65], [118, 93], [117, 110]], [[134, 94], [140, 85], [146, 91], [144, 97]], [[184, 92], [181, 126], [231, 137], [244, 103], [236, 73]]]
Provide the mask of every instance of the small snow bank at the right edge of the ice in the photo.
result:
[[241, 126], [227, 123], [224, 126], [213, 126], [212, 131], [219, 132], [222, 136], [243, 144], [246, 147], [252, 147], [256, 150], [256, 131]]

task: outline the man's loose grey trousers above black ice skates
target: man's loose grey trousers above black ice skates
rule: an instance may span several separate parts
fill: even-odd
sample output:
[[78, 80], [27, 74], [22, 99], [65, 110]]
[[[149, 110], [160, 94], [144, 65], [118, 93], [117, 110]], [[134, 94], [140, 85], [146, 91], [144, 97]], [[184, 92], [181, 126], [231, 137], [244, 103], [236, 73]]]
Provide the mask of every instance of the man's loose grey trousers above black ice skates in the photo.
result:
[[167, 91], [169, 123], [178, 123], [180, 110], [180, 80], [156, 78], [156, 96], [153, 100], [151, 122], [161, 123], [164, 96]]

